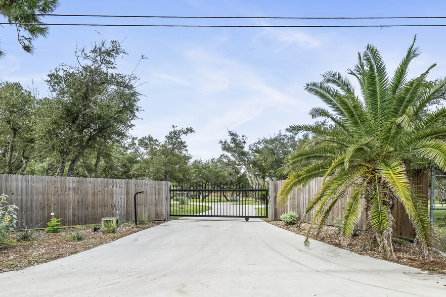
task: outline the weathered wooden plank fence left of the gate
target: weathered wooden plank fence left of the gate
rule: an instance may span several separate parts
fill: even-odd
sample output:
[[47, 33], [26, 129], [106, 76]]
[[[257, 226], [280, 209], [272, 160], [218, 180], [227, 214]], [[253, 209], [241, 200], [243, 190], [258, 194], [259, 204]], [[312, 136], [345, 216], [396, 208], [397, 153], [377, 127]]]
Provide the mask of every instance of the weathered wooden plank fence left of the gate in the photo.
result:
[[[137, 195], [137, 215], [151, 220], [170, 218], [170, 182], [0, 174], [0, 193], [16, 204], [18, 228], [48, 222], [55, 213], [65, 226], [100, 223], [101, 218], [135, 220], [133, 195]], [[45, 226], [45, 225], [43, 225]]]

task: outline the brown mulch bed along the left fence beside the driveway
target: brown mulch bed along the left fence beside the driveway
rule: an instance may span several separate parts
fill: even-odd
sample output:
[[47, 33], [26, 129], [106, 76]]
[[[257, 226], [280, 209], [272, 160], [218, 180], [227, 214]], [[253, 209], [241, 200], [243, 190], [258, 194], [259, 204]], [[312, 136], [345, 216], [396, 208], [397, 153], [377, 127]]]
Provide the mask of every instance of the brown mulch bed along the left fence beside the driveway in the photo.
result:
[[[165, 221], [152, 221], [137, 227], [133, 223], [123, 223], [116, 228], [116, 233], [93, 232], [93, 227], [60, 229], [59, 233], [47, 233], [37, 230], [31, 240], [20, 242], [18, 232], [10, 234], [7, 246], [0, 248], [0, 272], [23, 269], [79, 252], [96, 248], [121, 237], [157, 226]], [[72, 241], [72, 234], [80, 230], [84, 238]]]

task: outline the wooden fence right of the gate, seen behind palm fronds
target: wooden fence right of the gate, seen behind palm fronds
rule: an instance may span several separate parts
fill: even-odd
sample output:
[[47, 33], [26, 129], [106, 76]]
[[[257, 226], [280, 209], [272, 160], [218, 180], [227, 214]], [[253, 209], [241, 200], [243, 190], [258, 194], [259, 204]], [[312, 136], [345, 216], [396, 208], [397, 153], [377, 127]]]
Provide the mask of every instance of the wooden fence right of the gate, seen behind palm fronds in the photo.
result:
[[[409, 181], [415, 186], [418, 194], [423, 198], [423, 201], [428, 202], [428, 187], [429, 187], [429, 173], [427, 170], [420, 170], [417, 172], [408, 172]], [[276, 207], [277, 197], [279, 190], [284, 180], [271, 181], [270, 182], [270, 220], [278, 220], [280, 215], [287, 213], [289, 211], [295, 211], [299, 214], [299, 220], [303, 217], [305, 208], [308, 202], [316, 194], [316, 192], [321, 188], [322, 177], [315, 178], [311, 180], [303, 189], [294, 189], [289, 195], [288, 201], [282, 208]], [[347, 201], [347, 196], [350, 195], [350, 191], [347, 191], [346, 197], [339, 200], [335, 207], [330, 212], [330, 216], [325, 222], [326, 225], [333, 225], [333, 220], [338, 216], [343, 216], [345, 210], [345, 204]], [[361, 202], [364, 207], [364, 200]], [[364, 208], [363, 208], [364, 209]], [[309, 223], [311, 218], [315, 215], [313, 210], [308, 213], [304, 218], [304, 222]], [[409, 220], [409, 216], [406, 214], [406, 210], [403, 205], [397, 201], [392, 211], [393, 218], [395, 219], [395, 224], [393, 227], [393, 235], [398, 237], [415, 238], [415, 230]], [[359, 230], [363, 230], [366, 224], [366, 212], [361, 213], [361, 217], [356, 227]]]

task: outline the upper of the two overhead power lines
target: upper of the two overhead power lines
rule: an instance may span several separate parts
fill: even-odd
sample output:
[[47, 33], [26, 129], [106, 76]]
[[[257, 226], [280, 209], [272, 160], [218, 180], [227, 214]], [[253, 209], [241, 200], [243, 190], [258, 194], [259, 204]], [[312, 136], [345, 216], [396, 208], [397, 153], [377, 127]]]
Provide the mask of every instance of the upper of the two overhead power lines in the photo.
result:
[[[4, 13], [4, 15], [24, 15]], [[95, 17], [95, 18], [164, 18], [164, 19], [290, 19], [290, 20], [382, 20], [382, 19], [446, 19], [446, 17], [225, 17], [225, 16], [133, 16], [133, 15], [72, 15], [72, 14], [28, 14], [51, 17]]]

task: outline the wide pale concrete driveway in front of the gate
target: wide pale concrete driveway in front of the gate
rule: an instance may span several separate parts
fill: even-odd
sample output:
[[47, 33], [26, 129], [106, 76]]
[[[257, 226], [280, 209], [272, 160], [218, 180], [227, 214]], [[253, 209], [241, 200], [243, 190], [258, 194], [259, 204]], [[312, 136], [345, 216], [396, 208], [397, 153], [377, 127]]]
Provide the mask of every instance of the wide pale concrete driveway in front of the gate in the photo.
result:
[[172, 220], [0, 274], [0, 296], [441, 296], [435, 275], [311, 241], [258, 219]]

